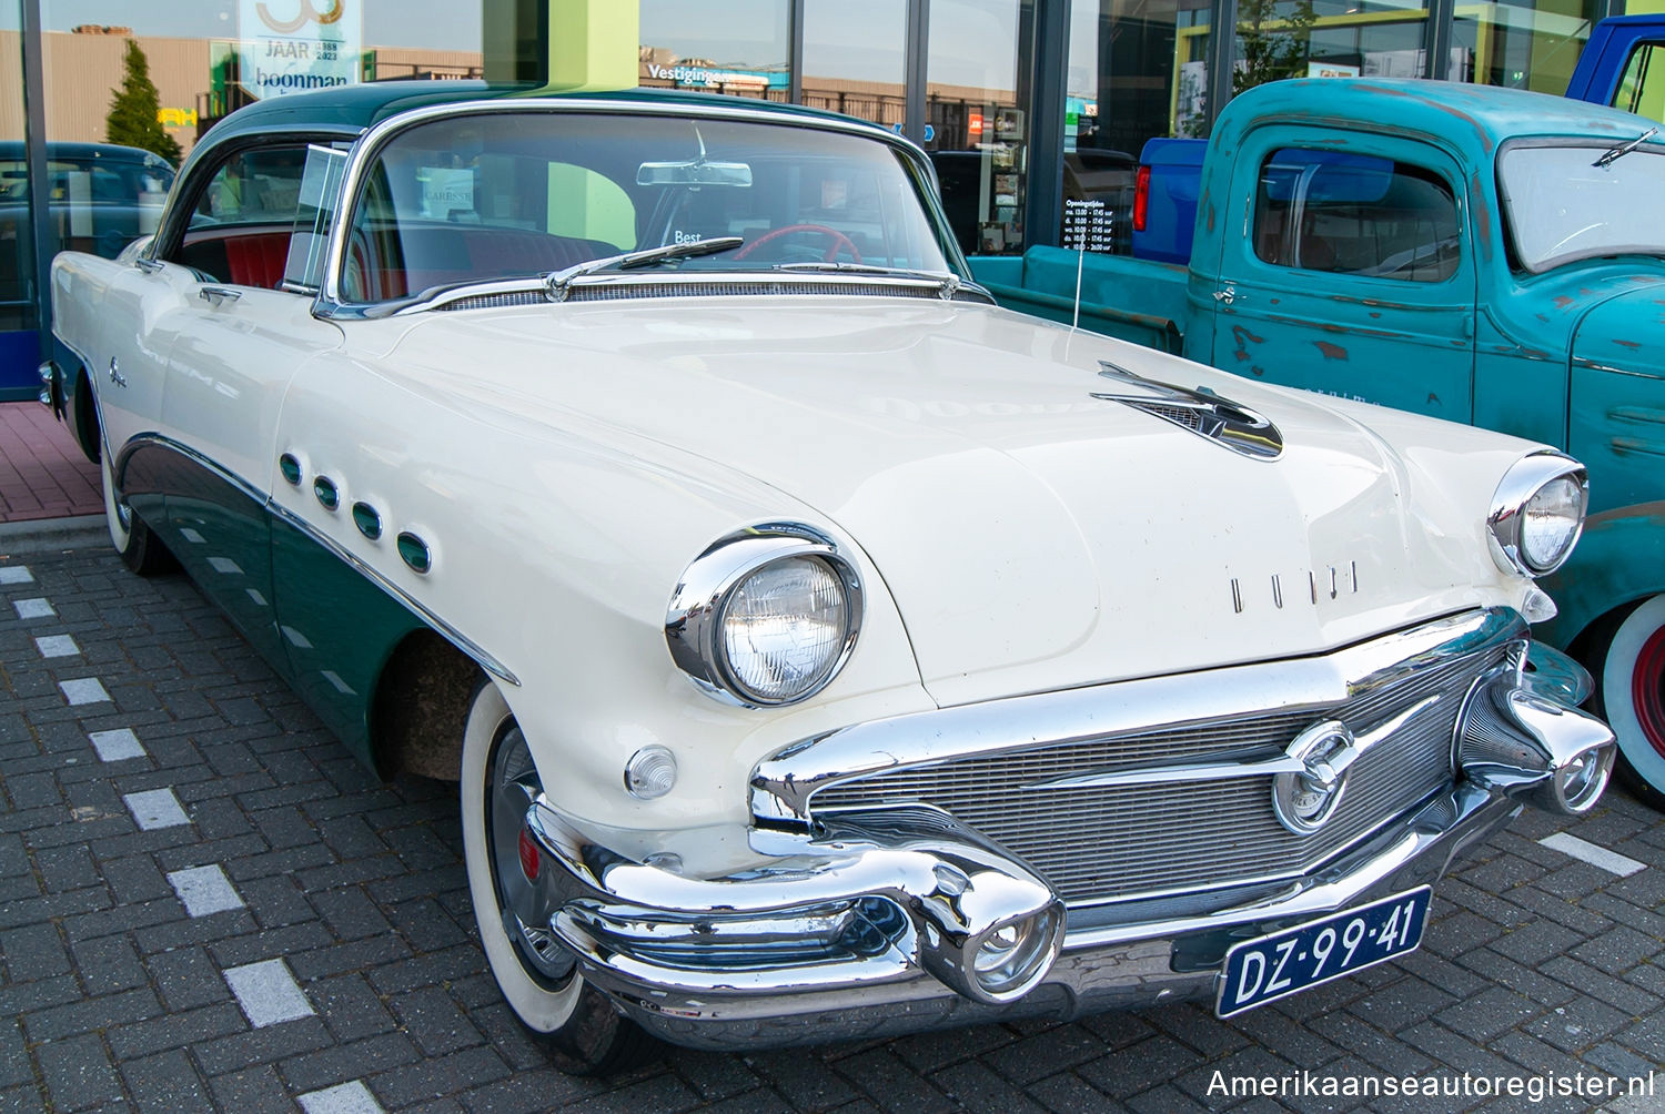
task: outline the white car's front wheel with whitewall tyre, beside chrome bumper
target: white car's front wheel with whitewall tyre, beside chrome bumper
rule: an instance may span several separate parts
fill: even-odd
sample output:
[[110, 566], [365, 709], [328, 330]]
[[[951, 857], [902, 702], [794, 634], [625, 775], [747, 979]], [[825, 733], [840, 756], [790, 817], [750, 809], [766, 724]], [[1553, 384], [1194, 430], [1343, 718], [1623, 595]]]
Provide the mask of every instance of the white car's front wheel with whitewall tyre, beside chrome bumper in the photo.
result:
[[509, 1009], [568, 1074], [606, 1076], [648, 1059], [656, 1041], [584, 984], [548, 931], [509, 913], [504, 894], [531, 884], [521, 871], [521, 818], [543, 781], [526, 736], [490, 681], [468, 708], [461, 781], [468, 893], [486, 962]]

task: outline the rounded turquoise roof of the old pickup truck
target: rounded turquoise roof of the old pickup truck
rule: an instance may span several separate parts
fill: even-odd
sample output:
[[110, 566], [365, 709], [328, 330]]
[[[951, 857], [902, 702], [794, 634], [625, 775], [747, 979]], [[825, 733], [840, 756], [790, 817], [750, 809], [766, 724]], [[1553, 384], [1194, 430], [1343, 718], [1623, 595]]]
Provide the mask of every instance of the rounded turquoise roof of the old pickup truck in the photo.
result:
[[1517, 138], [1590, 137], [1627, 142], [1650, 123], [1582, 100], [1518, 88], [1420, 78], [1297, 78], [1269, 82], [1234, 97], [1215, 137], [1240, 138], [1250, 123], [1335, 120], [1372, 130], [1444, 137], [1477, 165]]

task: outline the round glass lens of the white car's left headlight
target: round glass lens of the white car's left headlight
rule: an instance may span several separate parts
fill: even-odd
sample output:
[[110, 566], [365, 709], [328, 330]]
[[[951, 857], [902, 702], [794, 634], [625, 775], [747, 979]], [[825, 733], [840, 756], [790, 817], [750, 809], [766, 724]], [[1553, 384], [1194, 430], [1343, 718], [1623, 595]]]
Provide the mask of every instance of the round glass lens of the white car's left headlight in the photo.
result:
[[729, 593], [723, 658], [734, 684], [764, 704], [814, 691], [844, 653], [844, 583], [826, 561], [789, 556], [766, 564]]

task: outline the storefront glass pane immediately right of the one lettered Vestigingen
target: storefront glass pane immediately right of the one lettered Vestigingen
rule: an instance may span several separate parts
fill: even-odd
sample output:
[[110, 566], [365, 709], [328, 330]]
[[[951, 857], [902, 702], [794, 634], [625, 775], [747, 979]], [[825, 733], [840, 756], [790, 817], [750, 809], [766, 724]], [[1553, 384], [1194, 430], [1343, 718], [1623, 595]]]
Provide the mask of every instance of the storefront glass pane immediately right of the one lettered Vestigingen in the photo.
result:
[[804, 102], [899, 128], [907, 117], [907, 5], [804, 2]]

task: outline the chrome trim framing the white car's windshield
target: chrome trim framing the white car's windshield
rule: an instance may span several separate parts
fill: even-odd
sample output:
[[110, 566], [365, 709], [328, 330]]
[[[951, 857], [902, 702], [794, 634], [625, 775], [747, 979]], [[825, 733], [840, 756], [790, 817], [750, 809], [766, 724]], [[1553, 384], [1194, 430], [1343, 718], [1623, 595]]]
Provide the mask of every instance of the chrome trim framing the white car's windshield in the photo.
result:
[[[373, 318], [385, 316], [385, 313], [376, 313], [375, 310], [385, 306], [386, 303], [376, 301], [346, 301], [341, 296], [341, 271], [346, 265], [346, 241], [348, 230], [355, 218], [355, 210], [358, 206], [358, 195], [363, 186], [363, 178], [368, 173], [371, 160], [381, 152], [381, 148], [393, 140], [395, 135], [406, 128], [413, 128], [433, 120], [460, 115], [496, 115], [496, 113], [526, 113], [526, 112], [544, 112], [544, 113], [579, 113], [579, 115], [653, 115], [653, 117], [699, 117], [709, 120], [739, 120], [748, 123], [771, 123], [776, 127], [789, 128], [808, 128], [811, 132], [841, 132], [846, 135], [859, 135], [869, 140], [879, 140], [887, 143], [896, 150], [904, 160], [907, 160], [914, 170], [922, 177], [927, 185], [936, 185], [936, 170], [931, 167], [931, 160], [926, 157], [924, 150], [912, 140], [896, 135], [894, 132], [886, 132], [877, 125], [867, 123], [864, 120], [841, 120], [841, 118], [821, 118], [821, 117], [799, 117], [796, 113], [769, 112], [758, 108], [744, 108], [734, 105], [688, 105], [688, 103], [654, 103], [654, 102], [633, 102], [633, 100], [611, 100], [611, 98], [549, 98], [549, 97], [528, 97], [528, 98], [501, 98], [501, 100], [463, 100], [441, 105], [423, 105], [421, 108], [411, 108], [400, 112], [386, 120], [381, 120], [370, 128], [365, 128], [358, 138], [348, 148], [346, 173], [341, 175], [340, 195], [336, 198], [336, 216], [335, 226], [330, 230], [330, 243], [325, 255], [325, 275], [323, 290], [320, 291], [316, 301], [313, 303], [313, 316], [320, 318]], [[931, 218], [932, 230], [937, 235], [939, 246], [942, 248], [944, 258], [951, 265], [964, 265], [964, 256], [959, 251], [957, 241], [947, 230], [947, 221], [942, 218], [939, 206], [932, 198], [921, 198], [926, 206], [926, 213]], [[959, 271], [961, 281], [971, 281], [969, 266], [962, 266]]]

